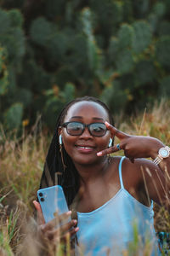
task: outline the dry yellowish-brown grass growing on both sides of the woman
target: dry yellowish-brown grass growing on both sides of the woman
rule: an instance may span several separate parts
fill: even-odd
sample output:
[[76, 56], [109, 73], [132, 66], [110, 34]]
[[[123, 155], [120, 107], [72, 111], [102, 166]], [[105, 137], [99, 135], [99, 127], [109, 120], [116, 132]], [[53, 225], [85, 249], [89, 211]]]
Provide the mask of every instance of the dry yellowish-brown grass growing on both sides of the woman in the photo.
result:
[[[170, 102], [161, 101], [138, 117], [123, 122], [117, 118], [116, 123], [120, 124], [117, 128], [129, 134], [157, 137], [170, 145], [169, 113]], [[0, 131], [0, 256], [22, 255], [22, 251], [27, 256], [46, 255], [39, 253], [42, 248], [38, 248], [35, 239], [37, 224], [31, 218], [34, 210], [32, 201], [37, 197], [50, 140], [46, 134], [37, 132], [37, 126], [32, 128], [30, 134], [26, 134], [23, 127], [22, 137], [13, 135], [13, 139], [4, 134], [3, 128]], [[155, 212], [156, 230], [170, 232], [167, 211], [155, 205]], [[28, 221], [29, 225], [26, 225]], [[29, 248], [27, 251], [26, 247]], [[67, 243], [67, 256], [71, 254], [70, 251]], [[57, 255], [63, 255], [60, 247], [57, 252]]]

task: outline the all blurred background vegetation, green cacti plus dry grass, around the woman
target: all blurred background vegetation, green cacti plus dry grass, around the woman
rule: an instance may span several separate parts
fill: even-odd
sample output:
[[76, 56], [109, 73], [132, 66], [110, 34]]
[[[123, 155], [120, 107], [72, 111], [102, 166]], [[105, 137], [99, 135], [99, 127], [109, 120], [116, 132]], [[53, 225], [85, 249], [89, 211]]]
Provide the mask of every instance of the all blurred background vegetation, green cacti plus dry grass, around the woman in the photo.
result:
[[[97, 96], [122, 131], [169, 145], [169, 71], [170, 0], [0, 0], [0, 255], [20, 245], [47, 154], [44, 131], [65, 103]], [[155, 212], [156, 230], [169, 232], [167, 211]]]

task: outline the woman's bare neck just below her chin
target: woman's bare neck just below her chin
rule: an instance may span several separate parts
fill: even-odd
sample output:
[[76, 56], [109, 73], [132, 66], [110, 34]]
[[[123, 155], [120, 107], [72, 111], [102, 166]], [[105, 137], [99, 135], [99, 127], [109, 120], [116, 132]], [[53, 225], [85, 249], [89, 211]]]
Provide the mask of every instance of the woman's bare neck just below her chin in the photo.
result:
[[79, 165], [75, 163], [77, 172], [79, 173], [81, 183], [92, 183], [96, 178], [102, 177], [108, 169], [108, 158], [101, 158], [101, 160], [95, 162], [93, 165]]

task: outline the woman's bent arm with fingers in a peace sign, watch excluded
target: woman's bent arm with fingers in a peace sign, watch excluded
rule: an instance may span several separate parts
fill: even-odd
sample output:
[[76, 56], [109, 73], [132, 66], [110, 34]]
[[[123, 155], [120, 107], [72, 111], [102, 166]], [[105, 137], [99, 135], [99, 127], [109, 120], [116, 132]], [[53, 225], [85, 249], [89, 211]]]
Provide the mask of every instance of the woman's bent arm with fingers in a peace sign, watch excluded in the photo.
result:
[[[140, 171], [140, 178], [143, 183], [145, 178], [145, 186], [148, 188], [150, 199], [164, 205], [170, 210], [168, 199], [170, 195], [170, 156], [161, 160], [159, 166], [156, 166], [150, 160], [141, 160], [143, 158], [152, 158], [155, 160], [159, 149], [165, 147], [165, 145], [154, 137], [130, 136], [117, 130], [107, 122], [105, 122], [105, 125], [111, 131], [112, 136], [116, 136], [120, 140], [120, 148], [124, 150], [125, 156], [134, 163], [132, 167], [136, 171]], [[113, 146], [99, 152], [98, 156], [112, 154], [118, 150], [120, 149]]]

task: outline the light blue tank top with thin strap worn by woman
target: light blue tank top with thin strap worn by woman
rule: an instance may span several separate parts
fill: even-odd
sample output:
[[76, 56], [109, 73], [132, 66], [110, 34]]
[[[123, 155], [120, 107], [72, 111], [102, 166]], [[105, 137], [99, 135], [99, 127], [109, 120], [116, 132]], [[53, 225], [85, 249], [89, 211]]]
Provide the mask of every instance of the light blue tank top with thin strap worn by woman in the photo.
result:
[[138, 255], [144, 255], [144, 246], [151, 248], [147, 255], [160, 255], [153, 224], [153, 207], [144, 206], [124, 188], [123, 159], [119, 163], [121, 189], [116, 195], [93, 212], [77, 212], [77, 239], [81, 248], [76, 248], [78, 255], [81, 251], [81, 255], [85, 256], [120, 256], [123, 250], [133, 252], [134, 242], [139, 247]]

